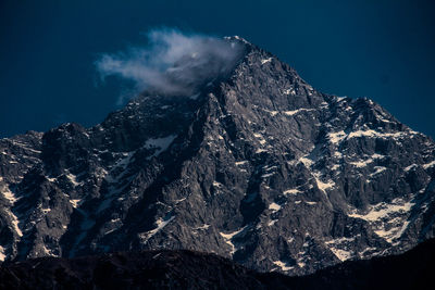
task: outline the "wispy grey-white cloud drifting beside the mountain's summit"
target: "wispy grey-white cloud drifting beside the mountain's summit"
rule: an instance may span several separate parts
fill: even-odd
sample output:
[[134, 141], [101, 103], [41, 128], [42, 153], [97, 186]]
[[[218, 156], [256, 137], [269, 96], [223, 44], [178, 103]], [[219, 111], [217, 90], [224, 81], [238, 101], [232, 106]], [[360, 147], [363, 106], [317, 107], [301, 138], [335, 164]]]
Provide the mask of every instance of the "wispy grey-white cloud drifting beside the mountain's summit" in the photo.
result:
[[206, 81], [226, 75], [243, 55], [243, 46], [222, 38], [157, 29], [148, 46], [101, 54], [96, 61], [102, 78], [133, 80], [137, 91], [191, 96]]

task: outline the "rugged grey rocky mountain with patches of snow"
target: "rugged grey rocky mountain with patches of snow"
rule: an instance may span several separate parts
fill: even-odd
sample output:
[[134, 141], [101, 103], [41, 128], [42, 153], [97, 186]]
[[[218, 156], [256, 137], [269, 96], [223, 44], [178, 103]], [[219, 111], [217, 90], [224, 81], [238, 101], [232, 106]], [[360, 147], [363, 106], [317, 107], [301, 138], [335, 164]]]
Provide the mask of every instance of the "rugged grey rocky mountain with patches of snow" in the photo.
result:
[[0, 140], [0, 260], [185, 249], [313, 273], [434, 237], [435, 143], [239, 37], [196, 94]]

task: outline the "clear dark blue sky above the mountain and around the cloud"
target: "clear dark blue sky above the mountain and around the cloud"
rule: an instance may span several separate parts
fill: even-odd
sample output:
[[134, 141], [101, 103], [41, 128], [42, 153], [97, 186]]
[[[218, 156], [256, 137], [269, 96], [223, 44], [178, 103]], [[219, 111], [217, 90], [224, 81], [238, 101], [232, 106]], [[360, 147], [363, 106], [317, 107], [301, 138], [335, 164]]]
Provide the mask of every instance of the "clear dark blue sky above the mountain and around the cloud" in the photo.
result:
[[435, 137], [434, 1], [0, 1], [0, 137], [64, 122], [91, 126], [121, 87], [96, 86], [99, 53], [178, 27], [239, 35], [313, 87], [369, 97]]

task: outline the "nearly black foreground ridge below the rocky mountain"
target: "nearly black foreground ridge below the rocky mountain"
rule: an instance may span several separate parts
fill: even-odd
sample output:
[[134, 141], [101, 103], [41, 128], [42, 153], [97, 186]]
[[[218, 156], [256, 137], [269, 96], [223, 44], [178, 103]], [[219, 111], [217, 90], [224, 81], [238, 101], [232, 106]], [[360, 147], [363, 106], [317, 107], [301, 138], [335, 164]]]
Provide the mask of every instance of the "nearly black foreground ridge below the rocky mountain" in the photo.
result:
[[302, 277], [258, 273], [192, 251], [41, 257], [0, 268], [1, 289], [430, 289], [435, 240], [401, 255], [351, 261]]

